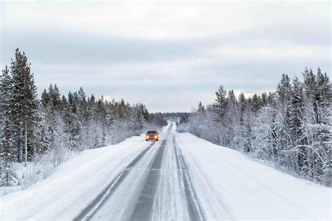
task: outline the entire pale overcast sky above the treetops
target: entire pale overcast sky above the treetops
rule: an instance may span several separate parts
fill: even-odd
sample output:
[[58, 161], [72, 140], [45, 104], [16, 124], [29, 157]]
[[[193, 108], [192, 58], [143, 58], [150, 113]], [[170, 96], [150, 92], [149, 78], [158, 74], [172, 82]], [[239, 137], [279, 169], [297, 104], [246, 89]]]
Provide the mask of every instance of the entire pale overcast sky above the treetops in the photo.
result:
[[274, 91], [305, 66], [331, 75], [331, 3], [1, 1], [1, 69], [24, 50], [39, 94], [87, 94], [190, 111], [220, 84]]

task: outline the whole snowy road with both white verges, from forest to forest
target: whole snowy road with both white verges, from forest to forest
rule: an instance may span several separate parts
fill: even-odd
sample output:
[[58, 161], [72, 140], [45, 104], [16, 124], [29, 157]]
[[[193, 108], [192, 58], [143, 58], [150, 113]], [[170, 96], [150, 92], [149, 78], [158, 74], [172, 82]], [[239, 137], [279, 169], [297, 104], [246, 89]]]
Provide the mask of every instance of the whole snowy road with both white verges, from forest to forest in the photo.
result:
[[142, 135], [81, 152], [0, 206], [0, 220], [331, 220], [331, 188], [170, 123], [158, 142]]

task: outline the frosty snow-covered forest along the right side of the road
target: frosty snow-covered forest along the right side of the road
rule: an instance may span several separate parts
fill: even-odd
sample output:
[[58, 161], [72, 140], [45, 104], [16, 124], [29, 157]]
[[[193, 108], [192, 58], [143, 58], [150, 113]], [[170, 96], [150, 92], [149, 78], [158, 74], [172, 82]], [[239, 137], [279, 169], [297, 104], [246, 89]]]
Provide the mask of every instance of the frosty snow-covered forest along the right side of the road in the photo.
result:
[[220, 85], [214, 103], [200, 102], [179, 130], [330, 186], [331, 101], [331, 83], [321, 69], [305, 69], [303, 81], [292, 83], [283, 74], [275, 92], [252, 97], [236, 97]]

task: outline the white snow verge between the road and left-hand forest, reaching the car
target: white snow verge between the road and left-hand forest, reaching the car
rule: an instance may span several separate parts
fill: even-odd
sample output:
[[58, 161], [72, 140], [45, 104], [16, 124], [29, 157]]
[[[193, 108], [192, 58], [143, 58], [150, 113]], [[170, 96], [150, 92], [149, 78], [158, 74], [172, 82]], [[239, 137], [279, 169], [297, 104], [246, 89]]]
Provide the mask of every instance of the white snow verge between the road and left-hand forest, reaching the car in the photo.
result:
[[147, 145], [141, 134], [116, 145], [79, 152], [46, 180], [1, 197], [1, 220], [49, 220], [59, 214], [73, 219]]

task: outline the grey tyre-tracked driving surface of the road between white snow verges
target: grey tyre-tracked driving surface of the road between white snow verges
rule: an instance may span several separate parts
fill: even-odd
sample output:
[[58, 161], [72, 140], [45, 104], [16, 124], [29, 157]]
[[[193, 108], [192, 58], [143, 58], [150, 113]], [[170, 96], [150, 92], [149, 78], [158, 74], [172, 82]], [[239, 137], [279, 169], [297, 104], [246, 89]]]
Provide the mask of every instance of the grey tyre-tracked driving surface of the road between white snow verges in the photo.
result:
[[75, 220], [204, 220], [173, 124], [109, 183]]

